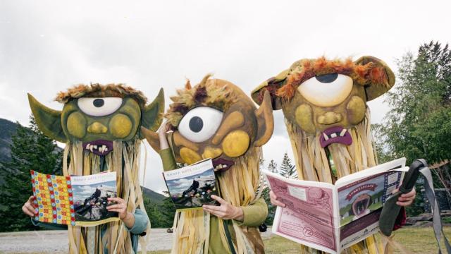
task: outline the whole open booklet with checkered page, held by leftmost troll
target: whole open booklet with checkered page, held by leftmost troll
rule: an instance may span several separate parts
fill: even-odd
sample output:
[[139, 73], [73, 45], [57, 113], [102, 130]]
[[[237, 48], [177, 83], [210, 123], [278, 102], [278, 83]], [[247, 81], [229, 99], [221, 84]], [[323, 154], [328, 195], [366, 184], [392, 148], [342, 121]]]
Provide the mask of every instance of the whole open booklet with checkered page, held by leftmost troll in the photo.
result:
[[72, 226], [97, 226], [118, 221], [106, 207], [116, 198], [116, 172], [89, 176], [55, 176], [31, 171], [36, 221]]

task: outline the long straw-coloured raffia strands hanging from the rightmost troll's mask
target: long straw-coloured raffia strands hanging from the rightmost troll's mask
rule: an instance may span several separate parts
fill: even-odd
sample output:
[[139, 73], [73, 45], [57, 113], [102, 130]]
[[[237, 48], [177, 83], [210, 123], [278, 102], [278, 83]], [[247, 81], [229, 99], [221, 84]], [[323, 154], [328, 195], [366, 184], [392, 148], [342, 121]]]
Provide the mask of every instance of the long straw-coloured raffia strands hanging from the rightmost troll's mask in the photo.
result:
[[[337, 169], [338, 178], [376, 165], [369, 117], [370, 112], [367, 109], [364, 121], [348, 129], [352, 135], [351, 145], [331, 144], [328, 146]], [[314, 136], [309, 135], [302, 131], [296, 123], [290, 123], [287, 119], [285, 119], [285, 125], [295, 155], [298, 178], [307, 181], [333, 183], [335, 176], [330, 169], [326, 151], [319, 143], [321, 133], [318, 132]], [[303, 253], [322, 253], [307, 246], [302, 246], [302, 251]], [[383, 253], [383, 243], [376, 241], [376, 238], [371, 236], [366, 238], [365, 241], [343, 250], [343, 253]]]

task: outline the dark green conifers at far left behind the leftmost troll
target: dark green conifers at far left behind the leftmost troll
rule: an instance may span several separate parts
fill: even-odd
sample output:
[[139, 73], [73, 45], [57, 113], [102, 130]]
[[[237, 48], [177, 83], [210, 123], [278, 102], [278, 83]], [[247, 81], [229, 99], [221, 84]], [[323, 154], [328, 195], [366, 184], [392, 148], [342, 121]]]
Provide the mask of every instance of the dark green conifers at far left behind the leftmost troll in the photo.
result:
[[18, 124], [12, 137], [11, 162], [0, 165], [4, 186], [0, 190], [0, 231], [35, 229], [30, 217], [22, 211], [23, 203], [32, 195], [30, 170], [43, 174], [61, 174], [61, 149], [47, 138], [30, 117], [30, 128]]

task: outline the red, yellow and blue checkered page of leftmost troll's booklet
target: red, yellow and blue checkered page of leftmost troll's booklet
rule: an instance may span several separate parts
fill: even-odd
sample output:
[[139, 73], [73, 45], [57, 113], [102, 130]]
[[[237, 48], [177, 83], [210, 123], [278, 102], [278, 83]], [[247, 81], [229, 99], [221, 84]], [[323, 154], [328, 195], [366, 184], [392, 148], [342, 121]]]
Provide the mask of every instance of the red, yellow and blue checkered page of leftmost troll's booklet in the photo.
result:
[[73, 191], [70, 176], [55, 176], [31, 171], [35, 194], [35, 220], [75, 226]]

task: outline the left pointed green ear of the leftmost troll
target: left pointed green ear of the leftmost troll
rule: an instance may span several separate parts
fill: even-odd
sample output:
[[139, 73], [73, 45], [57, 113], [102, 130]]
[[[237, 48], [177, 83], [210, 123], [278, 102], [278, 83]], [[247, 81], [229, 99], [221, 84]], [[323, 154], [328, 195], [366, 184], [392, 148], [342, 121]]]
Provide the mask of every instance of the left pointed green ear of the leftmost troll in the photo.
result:
[[28, 94], [28, 102], [39, 130], [53, 140], [66, 143], [68, 138], [61, 126], [61, 111], [45, 107], [30, 94]]

